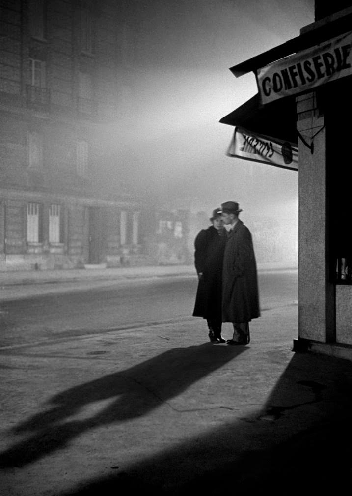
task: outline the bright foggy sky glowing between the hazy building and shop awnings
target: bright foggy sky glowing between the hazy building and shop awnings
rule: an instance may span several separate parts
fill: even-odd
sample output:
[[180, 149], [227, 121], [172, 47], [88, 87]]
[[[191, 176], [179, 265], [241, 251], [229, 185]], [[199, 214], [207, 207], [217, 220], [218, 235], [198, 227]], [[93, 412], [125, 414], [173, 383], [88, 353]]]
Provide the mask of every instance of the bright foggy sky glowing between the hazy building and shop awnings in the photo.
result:
[[[162, 205], [203, 209], [235, 199], [251, 215], [297, 226], [298, 174], [226, 156], [219, 120], [257, 92], [229, 67], [299, 35], [312, 0], [129, 1], [123, 21], [120, 113], [111, 143], [136, 187]], [[127, 176], [127, 174], [126, 174]]]

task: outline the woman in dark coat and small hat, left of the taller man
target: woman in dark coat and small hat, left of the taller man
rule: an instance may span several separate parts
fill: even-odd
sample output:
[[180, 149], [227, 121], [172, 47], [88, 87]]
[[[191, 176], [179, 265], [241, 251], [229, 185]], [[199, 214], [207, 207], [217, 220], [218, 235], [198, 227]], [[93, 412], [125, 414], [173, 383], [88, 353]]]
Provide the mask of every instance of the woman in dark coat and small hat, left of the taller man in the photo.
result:
[[198, 288], [193, 315], [206, 319], [208, 336], [213, 343], [225, 343], [221, 336], [221, 286], [226, 236], [219, 210], [213, 210], [212, 225], [202, 229], [195, 239]]

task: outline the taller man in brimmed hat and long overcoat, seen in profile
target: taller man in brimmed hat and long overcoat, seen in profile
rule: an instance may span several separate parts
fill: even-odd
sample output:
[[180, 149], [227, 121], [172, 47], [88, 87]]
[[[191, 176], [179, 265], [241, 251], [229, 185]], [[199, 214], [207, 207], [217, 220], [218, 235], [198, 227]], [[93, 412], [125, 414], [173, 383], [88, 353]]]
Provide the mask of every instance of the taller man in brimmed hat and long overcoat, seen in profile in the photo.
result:
[[250, 230], [238, 218], [236, 201], [221, 204], [227, 241], [222, 272], [222, 321], [232, 322], [234, 333], [227, 343], [250, 342], [249, 322], [260, 315], [256, 261]]

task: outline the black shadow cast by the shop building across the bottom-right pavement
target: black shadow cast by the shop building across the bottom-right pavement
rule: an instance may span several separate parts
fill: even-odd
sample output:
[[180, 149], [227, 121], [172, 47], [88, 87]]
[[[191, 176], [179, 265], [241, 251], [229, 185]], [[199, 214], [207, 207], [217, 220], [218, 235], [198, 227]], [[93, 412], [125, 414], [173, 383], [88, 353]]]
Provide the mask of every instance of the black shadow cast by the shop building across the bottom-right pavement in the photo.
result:
[[352, 364], [293, 356], [264, 408], [65, 496], [325, 495], [352, 482]]

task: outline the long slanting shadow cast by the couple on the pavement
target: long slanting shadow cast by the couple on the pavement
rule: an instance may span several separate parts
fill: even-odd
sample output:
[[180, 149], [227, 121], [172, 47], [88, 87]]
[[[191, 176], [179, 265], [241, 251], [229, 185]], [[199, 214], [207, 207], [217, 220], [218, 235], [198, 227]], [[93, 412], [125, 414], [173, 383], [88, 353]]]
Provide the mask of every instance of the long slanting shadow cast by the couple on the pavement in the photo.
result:
[[[67, 389], [50, 399], [48, 410], [13, 429], [15, 434], [30, 433], [29, 437], [0, 453], [0, 466], [23, 466], [90, 429], [141, 417], [245, 350], [211, 343], [172, 348], [130, 369]], [[69, 419], [85, 406], [106, 399], [112, 402], [96, 415]]]

